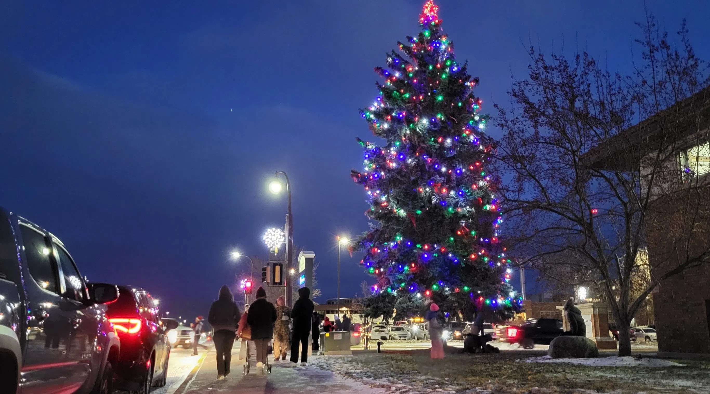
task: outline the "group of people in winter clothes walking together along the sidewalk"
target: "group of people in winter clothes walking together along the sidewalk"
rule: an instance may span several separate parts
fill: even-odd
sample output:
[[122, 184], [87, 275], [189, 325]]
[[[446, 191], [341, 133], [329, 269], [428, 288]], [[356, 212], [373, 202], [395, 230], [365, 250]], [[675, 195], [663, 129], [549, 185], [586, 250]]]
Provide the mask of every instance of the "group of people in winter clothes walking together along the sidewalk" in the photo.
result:
[[263, 376], [264, 368], [268, 365], [268, 346], [272, 340], [275, 362], [285, 361], [290, 347], [289, 366], [296, 366], [298, 348], [301, 346], [301, 365], [307, 363], [314, 305], [309, 299], [309, 288], [298, 289], [298, 295], [293, 309], [284, 305], [283, 296], [278, 297], [274, 306], [266, 300], [266, 290], [260, 287], [256, 290], [256, 300], [251, 305], [244, 305], [244, 313], [241, 313], [229, 287], [224, 285], [219, 289], [219, 298], [212, 303], [207, 317], [214, 329], [217, 379], [222, 380], [229, 375], [231, 348], [238, 337], [241, 338], [239, 359], [248, 359], [251, 351], [254, 351], [258, 376]]

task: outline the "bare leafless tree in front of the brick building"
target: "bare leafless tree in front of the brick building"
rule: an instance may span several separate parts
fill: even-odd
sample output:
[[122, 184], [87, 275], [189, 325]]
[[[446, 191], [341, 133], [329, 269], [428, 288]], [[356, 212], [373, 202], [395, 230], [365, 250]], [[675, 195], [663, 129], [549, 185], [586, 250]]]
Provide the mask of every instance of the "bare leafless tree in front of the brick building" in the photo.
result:
[[[621, 356], [652, 290], [710, 262], [710, 234], [698, 226], [710, 176], [692, 173], [697, 161], [679, 165], [684, 147], [708, 141], [706, 68], [684, 23], [677, 46], [652, 16], [638, 26], [643, 53], [631, 75], [604, 70], [586, 52], [568, 60], [531, 48], [529, 77], [509, 92], [512, 109], [496, 106], [510, 249], [564, 283], [594, 283], [616, 319]], [[654, 231], [666, 233], [663, 245]], [[647, 248], [667, 253], [643, 263]]]

